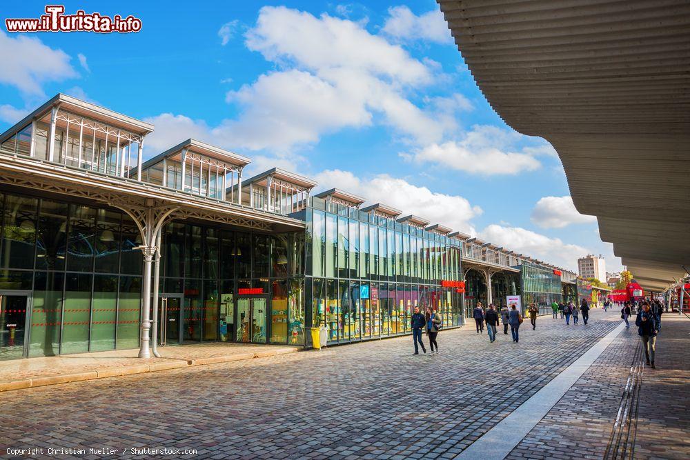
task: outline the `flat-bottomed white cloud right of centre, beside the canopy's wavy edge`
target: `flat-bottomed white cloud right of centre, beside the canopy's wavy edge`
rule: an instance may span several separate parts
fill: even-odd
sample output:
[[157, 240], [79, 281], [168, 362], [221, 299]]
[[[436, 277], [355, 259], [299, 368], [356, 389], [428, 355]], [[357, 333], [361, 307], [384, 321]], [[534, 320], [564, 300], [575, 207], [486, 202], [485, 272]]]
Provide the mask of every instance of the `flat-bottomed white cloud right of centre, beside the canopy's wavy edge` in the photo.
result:
[[473, 126], [459, 141], [431, 143], [401, 156], [473, 174], [518, 174], [540, 168], [533, 153], [517, 148], [520, 139], [522, 134], [496, 126]]

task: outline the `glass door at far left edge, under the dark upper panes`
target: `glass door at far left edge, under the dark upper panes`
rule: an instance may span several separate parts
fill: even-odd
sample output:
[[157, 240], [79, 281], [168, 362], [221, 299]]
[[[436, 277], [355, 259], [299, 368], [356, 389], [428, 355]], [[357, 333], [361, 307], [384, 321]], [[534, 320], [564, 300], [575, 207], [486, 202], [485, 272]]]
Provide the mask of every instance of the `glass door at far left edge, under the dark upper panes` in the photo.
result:
[[0, 292], [0, 360], [26, 356], [28, 294]]

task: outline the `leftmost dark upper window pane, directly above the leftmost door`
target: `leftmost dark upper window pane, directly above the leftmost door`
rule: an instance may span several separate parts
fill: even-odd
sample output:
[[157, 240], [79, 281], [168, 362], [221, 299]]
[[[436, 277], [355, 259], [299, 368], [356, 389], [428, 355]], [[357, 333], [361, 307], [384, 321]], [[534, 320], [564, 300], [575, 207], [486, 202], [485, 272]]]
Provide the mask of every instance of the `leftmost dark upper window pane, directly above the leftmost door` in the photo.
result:
[[[0, 200], [1, 200], [0, 195]], [[3, 210], [1, 266], [32, 268], [36, 238], [36, 199], [6, 195]]]

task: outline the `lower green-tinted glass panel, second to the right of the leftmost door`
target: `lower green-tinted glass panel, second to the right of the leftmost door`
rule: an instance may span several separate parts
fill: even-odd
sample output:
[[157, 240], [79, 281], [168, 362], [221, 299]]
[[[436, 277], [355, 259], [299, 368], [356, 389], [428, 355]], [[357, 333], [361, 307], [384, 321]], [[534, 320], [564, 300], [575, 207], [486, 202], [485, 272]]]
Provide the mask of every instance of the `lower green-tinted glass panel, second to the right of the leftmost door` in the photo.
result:
[[93, 275], [90, 273], [67, 274], [62, 325], [62, 354], [88, 351], [92, 281]]

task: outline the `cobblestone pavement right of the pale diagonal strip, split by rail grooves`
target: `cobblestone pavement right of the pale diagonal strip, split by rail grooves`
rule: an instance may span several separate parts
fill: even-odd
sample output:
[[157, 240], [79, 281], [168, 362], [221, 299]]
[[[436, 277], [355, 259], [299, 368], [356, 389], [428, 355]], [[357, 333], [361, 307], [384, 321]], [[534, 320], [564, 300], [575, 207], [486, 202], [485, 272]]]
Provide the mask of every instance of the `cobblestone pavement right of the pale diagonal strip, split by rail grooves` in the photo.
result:
[[[640, 399], [633, 417], [635, 459], [690, 458], [689, 334], [688, 319], [662, 316], [662, 334], [656, 347], [658, 366], [642, 371]], [[604, 457], [639, 346], [637, 328], [624, 330], [507, 458]]]

